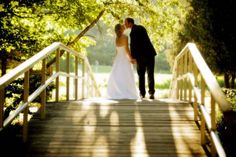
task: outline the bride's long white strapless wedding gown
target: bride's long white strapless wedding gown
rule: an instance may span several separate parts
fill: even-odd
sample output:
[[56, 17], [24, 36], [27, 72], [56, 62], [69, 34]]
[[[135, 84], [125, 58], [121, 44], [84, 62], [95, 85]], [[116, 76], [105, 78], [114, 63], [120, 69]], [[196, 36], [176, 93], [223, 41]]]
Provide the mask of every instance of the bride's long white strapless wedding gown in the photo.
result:
[[107, 96], [109, 99], [138, 99], [133, 65], [125, 53], [125, 46], [116, 47], [116, 50], [107, 84]]

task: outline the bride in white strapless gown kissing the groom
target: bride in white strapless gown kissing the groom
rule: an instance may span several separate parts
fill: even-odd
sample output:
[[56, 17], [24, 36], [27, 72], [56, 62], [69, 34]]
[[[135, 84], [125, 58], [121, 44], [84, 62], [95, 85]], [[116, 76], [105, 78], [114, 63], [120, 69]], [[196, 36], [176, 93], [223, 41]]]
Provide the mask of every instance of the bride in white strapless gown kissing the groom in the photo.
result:
[[138, 99], [133, 65], [135, 60], [130, 55], [128, 37], [123, 34], [125, 27], [115, 26], [116, 56], [108, 79], [107, 95], [110, 99]]

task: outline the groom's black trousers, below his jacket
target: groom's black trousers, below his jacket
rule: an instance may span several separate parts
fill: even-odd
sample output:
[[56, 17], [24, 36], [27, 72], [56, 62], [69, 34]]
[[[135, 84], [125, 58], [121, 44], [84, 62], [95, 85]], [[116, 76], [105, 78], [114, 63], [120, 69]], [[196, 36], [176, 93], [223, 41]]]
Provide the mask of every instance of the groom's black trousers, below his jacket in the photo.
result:
[[139, 77], [139, 92], [140, 95], [145, 96], [145, 74], [148, 76], [148, 93], [154, 95], [155, 93], [155, 79], [154, 79], [155, 56], [150, 58], [137, 59], [137, 73]]

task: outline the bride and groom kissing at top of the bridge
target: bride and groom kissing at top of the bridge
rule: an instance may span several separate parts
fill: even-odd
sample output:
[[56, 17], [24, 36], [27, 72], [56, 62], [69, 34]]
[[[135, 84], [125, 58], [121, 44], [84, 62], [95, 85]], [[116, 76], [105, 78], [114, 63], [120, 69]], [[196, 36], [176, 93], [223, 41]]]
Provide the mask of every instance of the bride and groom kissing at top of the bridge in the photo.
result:
[[[131, 29], [130, 46], [128, 37], [123, 34]], [[156, 51], [146, 29], [136, 25], [134, 19], [126, 18], [124, 25], [115, 26], [116, 56], [108, 80], [107, 95], [110, 99], [142, 99], [146, 95], [145, 74], [148, 76], [149, 98], [154, 99], [154, 65]], [[130, 48], [129, 48], [130, 47]], [[139, 78], [139, 92], [135, 85], [133, 64], [136, 64]]]

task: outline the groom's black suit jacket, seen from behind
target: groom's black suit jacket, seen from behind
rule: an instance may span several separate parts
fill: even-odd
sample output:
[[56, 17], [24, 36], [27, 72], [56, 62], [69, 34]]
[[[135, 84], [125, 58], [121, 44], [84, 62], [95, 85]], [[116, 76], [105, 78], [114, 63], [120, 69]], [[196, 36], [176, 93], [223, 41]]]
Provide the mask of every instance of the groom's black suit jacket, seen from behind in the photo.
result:
[[133, 25], [130, 32], [131, 56], [137, 60], [148, 59], [156, 55], [146, 29], [141, 25]]

